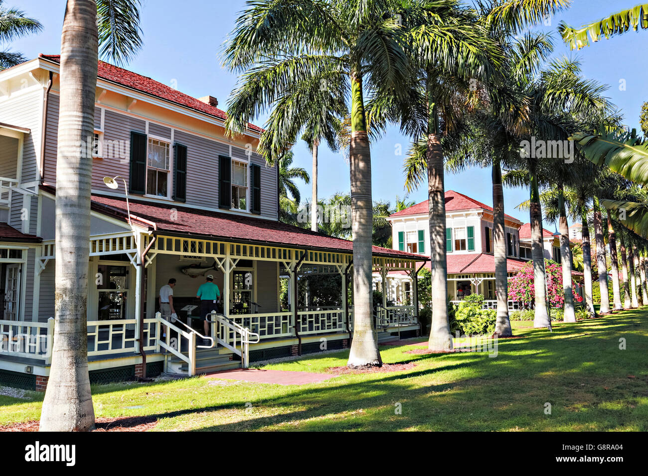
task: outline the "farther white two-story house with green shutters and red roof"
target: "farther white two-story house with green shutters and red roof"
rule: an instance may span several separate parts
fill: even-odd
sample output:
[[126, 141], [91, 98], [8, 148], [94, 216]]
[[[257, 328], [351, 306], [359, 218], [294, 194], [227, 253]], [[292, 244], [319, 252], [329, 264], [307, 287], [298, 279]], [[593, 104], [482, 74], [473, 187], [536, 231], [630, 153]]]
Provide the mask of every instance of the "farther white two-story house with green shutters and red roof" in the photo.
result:
[[[430, 256], [428, 206], [427, 200], [422, 201], [389, 216], [394, 249]], [[457, 302], [471, 293], [479, 293], [485, 297], [489, 307], [495, 307], [493, 209], [454, 190], [445, 192], [445, 207], [448, 300]], [[504, 229], [510, 278], [531, 260], [531, 227], [529, 223], [523, 224], [505, 214]], [[560, 262], [559, 238], [548, 230], [543, 233], [545, 257]], [[429, 269], [430, 262], [425, 266]], [[375, 275], [374, 280], [378, 286], [383, 278]], [[394, 272], [385, 281], [389, 299], [410, 302], [413, 282], [409, 276]], [[517, 307], [518, 303], [509, 301], [509, 308]]]

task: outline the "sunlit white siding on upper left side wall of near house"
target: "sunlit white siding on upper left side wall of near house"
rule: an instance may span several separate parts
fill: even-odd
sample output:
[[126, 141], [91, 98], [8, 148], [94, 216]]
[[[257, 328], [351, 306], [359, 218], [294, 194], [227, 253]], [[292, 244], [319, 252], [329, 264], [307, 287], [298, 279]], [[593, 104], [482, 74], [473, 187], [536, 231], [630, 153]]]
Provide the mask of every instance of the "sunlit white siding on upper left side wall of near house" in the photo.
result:
[[42, 90], [36, 90], [10, 98], [0, 108], [0, 122], [31, 130], [31, 133], [25, 135], [23, 145], [23, 182], [32, 182], [38, 178], [37, 153], [40, 153], [42, 96]]

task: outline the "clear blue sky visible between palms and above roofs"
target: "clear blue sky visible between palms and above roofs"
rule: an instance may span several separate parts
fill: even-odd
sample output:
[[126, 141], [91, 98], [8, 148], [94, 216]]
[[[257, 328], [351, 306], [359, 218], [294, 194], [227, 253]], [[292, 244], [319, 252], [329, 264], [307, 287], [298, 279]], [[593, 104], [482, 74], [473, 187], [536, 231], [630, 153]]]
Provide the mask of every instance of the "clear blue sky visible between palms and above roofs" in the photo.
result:
[[[578, 52], [570, 52], [559, 38], [556, 28], [561, 20], [577, 27], [595, 21], [618, 10], [637, 5], [638, 0], [573, 0], [572, 8], [551, 19], [551, 26], [542, 27], [553, 31], [555, 55], [577, 56], [583, 62], [586, 77], [610, 86], [607, 96], [625, 115], [625, 123], [639, 128], [642, 103], [648, 100], [648, 83], [645, 79], [645, 52], [648, 47], [648, 31], [628, 32], [625, 35], [602, 40]], [[243, 10], [244, 0], [145, 0], [141, 12], [145, 46], [128, 69], [159, 82], [176, 87], [191, 96], [212, 95], [218, 98], [221, 108], [237, 82], [236, 76], [220, 67], [220, 51], [227, 34], [231, 31], [238, 12]], [[38, 36], [14, 41], [11, 47], [25, 56], [34, 58], [39, 53], [60, 52], [61, 28], [65, 11], [64, 0], [7, 0], [5, 6], [17, 6], [29, 16], [40, 19], [44, 25]], [[255, 122], [262, 125], [264, 117]], [[373, 198], [391, 201], [404, 196], [402, 161], [404, 155], [395, 155], [397, 144], [403, 154], [409, 140], [395, 128], [374, 144], [372, 155]], [[312, 159], [307, 147], [295, 146], [295, 163], [310, 172]], [[445, 176], [446, 190], [456, 190], [491, 205], [490, 170], [472, 168], [461, 174]], [[303, 199], [310, 198], [310, 186], [301, 183]], [[329, 150], [319, 153], [319, 195], [327, 197], [335, 192], [348, 192], [349, 166], [343, 156]], [[427, 197], [427, 187], [410, 194], [414, 201]], [[505, 189], [506, 212], [522, 221], [529, 221], [527, 212], [516, 210], [518, 203], [528, 198], [527, 190]], [[546, 223], [553, 231], [555, 226]]]

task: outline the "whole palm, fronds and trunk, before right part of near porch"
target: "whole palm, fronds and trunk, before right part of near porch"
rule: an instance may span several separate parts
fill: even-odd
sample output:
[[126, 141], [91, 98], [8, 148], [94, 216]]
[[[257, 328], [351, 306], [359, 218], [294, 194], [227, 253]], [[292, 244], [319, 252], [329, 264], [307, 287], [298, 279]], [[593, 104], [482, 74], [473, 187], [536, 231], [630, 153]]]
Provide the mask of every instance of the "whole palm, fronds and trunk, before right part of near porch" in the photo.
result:
[[[371, 150], [365, 96], [400, 95], [410, 66], [387, 0], [249, 1], [226, 43], [225, 65], [244, 73], [229, 102], [227, 128], [249, 120], [291, 87], [322, 84], [351, 101], [349, 163], [353, 210], [354, 338], [349, 367], [380, 366], [371, 302]], [[272, 161], [272, 157], [266, 157]]]

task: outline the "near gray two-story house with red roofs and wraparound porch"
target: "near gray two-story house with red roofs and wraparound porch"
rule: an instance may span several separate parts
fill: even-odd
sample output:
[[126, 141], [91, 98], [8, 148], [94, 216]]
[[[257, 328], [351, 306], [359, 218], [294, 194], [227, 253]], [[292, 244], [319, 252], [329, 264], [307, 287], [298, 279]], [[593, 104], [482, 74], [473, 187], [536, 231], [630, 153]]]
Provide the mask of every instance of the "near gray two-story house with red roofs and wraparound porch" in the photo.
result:
[[[50, 55], [0, 72], [0, 382], [27, 388], [43, 388], [51, 358], [59, 75]], [[279, 170], [255, 152], [262, 130], [231, 137], [217, 106], [98, 63], [95, 131], [81, 144], [93, 157], [91, 381], [240, 367], [353, 338], [352, 242], [279, 221]], [[380, 272], [413, 273], [424, 259], [373, 249]], [[313, 273], [336, 277], [341, 304], [299, 302], [297, 282]], [[203, 340], [196, 291], [210, 274], [222, 312]], [[157, 312], [170, 278], [176, 321]], [[398, 310], [407, 325], [385, 311], [379, 331], [415, 332], [415, 309]]]

